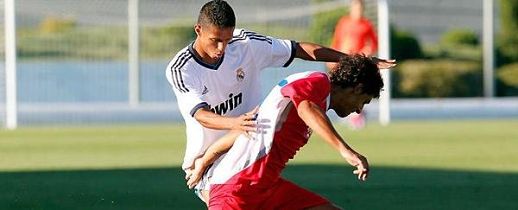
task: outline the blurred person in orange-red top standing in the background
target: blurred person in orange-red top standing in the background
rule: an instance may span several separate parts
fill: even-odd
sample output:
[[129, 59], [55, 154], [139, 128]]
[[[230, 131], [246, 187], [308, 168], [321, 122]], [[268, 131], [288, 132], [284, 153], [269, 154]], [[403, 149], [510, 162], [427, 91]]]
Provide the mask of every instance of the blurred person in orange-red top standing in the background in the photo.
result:
[[[336, 24], [331, 48], [346, 54], [373, 56], [378, 50], [378, 38], [372, 23], [363, 16], [363, 0], [351, 0], [349, 10]], [[327, 64], [329, 69], [334, 65]], [[353, 113], [346, 120], [350, 128], [361, 129], [366, 123], [366, 112]]]

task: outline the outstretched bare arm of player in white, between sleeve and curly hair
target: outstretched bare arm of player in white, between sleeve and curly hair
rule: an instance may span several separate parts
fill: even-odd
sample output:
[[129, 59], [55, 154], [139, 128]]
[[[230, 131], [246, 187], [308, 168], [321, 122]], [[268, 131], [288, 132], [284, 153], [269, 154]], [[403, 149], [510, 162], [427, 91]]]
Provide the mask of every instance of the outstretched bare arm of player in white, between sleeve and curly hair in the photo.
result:
[[299, 43], [296, 51], [297, 58], [309, 61], [338, 62], [342, 56], [347, 54], [308, 42]]

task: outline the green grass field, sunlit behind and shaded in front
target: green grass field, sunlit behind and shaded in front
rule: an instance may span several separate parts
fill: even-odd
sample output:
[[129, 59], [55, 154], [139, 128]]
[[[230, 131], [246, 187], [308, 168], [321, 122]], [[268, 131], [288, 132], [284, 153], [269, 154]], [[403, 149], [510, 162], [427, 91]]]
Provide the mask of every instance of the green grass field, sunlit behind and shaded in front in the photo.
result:
[[[518, 120], [340, 127], [359, 182], [316, 135], [285, 177], [346, 209], [518, 209]], [[203, 209], [180, 169], [181, 125], [0, 130], [0, 209]]]

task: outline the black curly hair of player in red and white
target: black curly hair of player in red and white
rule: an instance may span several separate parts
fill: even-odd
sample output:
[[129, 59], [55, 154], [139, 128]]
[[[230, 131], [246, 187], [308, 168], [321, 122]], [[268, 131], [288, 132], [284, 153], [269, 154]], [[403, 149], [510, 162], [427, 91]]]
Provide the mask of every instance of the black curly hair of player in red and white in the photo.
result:
[[332, 85], [348, 88], [361, 84], [362, 92], [374, 98], [379, 97], [383, 88], [379, 68], [370, 57], [361, 54], [342, 57], [329, 75]]

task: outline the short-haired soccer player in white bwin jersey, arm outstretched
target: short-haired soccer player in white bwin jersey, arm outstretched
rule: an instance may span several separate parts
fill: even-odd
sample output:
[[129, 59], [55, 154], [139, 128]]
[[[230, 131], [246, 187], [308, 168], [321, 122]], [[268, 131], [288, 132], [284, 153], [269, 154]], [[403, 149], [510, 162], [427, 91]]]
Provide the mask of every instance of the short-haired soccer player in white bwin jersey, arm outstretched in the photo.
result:
[[[235, 29], [234, 12], [222, 0], [203, 5], [194, 30], [196, 40], [166, 68], [186, 124], [182, 169], [187, 177], [194, 160], [228, 130], [255, 130], [253, 109], [262, 98], [259, 79], [264, 68], [286, 67], [294, 58], [337, 62], [346, 56], [317, 44]], [[384, 68], [395, 65], [392, 60], [373, 60]]]

